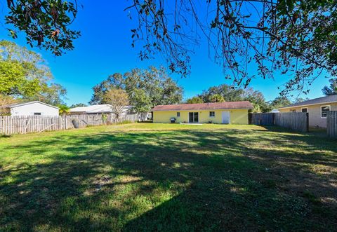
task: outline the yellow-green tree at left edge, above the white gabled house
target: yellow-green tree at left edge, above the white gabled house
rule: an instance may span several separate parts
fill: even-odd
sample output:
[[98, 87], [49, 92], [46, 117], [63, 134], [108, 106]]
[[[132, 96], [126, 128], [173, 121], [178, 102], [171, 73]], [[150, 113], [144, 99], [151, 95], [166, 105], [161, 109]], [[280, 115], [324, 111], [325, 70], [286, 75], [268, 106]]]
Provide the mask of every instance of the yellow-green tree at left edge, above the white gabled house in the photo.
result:
[[52, 79], [41, 55], [11, 41], [0, 41], [0, 94], [62, 104], [67, 90]]

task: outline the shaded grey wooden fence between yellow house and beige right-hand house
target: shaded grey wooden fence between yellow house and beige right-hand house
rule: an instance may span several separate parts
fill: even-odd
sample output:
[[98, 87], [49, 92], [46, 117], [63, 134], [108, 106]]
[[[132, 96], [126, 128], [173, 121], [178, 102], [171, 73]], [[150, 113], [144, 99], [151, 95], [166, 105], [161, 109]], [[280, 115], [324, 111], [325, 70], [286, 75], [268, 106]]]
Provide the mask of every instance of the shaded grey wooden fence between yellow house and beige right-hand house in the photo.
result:
[[289, 112], [289, 113], [254, 113], [249, 114], [249, 124], [255, 125], [279, 125], [283, 128], [308, 132], [309, 116], [308, 113]]

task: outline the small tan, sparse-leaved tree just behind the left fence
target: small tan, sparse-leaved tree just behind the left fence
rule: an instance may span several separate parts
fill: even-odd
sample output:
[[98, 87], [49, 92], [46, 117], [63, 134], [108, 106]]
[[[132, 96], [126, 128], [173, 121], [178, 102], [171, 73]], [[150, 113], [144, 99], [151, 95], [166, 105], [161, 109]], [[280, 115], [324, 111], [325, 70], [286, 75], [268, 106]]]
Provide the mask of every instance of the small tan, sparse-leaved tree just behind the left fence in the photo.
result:
[[117, 118], [123, 113], [124, 107], [128, 105], [128, 95], [125, 90], [112, 89], [104, 95], [105, 102], [112, 105], [112, 111]]

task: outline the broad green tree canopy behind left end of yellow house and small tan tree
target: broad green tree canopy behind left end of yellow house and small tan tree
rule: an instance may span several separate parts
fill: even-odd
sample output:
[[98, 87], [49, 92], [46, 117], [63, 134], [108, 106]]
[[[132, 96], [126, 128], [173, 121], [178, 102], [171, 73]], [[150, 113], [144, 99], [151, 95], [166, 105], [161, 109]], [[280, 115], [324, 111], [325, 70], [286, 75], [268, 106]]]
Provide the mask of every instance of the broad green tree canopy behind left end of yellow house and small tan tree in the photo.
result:
[[112, 74], [93, 87], [89, 104], [106, 104], [104, 95], [112, 89], [123, 89], [128, 101], [138, 112], [149, 111], [158, 104], [176, 104], [183, 99], [183, 88], [171, 79], [163, 67], [132, 69], [125, 74]]

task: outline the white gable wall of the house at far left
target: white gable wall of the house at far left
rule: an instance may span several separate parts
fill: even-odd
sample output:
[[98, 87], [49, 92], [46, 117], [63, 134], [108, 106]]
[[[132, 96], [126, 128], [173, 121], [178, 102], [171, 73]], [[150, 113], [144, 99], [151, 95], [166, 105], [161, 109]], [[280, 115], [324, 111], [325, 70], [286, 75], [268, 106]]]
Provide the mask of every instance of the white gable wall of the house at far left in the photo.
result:
[[32, 116], [34, 113], [41, 113], [41, 116], [58, 116], [58, 109], [39, 102], [11, 108], [11, 116]]

